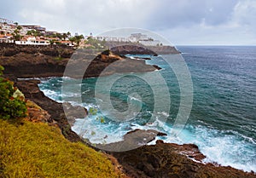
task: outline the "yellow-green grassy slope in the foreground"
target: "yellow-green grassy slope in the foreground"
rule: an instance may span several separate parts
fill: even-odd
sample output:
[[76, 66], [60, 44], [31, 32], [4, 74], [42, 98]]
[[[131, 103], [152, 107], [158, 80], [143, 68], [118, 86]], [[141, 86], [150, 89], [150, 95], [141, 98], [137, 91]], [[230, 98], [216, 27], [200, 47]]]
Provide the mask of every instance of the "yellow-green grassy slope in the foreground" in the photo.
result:
[[72, 143], [47, 123], [0, 119], [0, 177], [122, 177], [101, 152]]

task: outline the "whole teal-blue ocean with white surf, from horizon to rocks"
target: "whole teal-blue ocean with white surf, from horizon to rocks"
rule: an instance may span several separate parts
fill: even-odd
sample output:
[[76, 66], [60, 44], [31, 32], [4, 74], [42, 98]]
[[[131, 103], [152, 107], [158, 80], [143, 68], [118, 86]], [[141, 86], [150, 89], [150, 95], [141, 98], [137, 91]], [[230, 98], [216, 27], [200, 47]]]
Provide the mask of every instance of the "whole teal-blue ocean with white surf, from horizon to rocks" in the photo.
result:
[[[121, 141], [132, 129], [155, 129], [167, 134], [157, 139], [199, 146], [207, 156], [206, 163], [256, 172], [256, 47], [177, 46], [177, 49], [182, 52], [193, 82], [192, 109], [177, 136], [171, 133], [182, 90], [177, 73], [164, 60], [172, 55], [136, 55], [150, 57], [147, 63], [160, 66], [160, 71], [113, 74], [87, 78], [82, 83], [72, 78], [41, 78], [39, 88], [53, 100], [69, 101], [90, 110], [87, 118], [76, 119], [73, 130], [91, 143]], [[158, 74], [165, 83], [157, 83]], [[108, 83], [114, 78], [118, 80], [109, 88]], [[61, 93], [63, 80], [72, 83], [64, 94]], [[101, 85], [96, 88], [97, 81]], [[74, 92], [74, 84], [79, 84], [81, 95]], [[109, 95], [110, 101], [101, 107], [102, 95]], [[171, 103], [166, 110], [163, 103], [168, 100]], [[128, 114], [130, 106], [136, 112]], [[108, 108], [125, 115], [115, 115]]]

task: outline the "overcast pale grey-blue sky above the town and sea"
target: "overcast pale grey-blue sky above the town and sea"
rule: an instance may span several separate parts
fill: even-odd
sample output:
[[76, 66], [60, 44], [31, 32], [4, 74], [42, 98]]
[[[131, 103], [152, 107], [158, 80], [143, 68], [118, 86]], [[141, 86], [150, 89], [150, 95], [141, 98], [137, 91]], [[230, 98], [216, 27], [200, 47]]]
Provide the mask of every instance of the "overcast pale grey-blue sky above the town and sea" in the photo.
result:
[[174, 45], [256, 45], [256, 0], [0, 0], [0, 17], [94, 35], [121, 27]]

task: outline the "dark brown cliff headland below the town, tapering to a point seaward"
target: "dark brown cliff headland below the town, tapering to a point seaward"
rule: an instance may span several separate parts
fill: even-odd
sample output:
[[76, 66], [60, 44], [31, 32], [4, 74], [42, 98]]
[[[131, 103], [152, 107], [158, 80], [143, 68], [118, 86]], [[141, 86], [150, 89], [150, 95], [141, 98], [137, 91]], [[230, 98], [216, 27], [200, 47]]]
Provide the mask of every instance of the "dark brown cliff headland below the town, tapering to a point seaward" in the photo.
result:
[[84, 78], [98, 77], [102, 71], [112, 64], [111, 70], [103, 73], [110, 75], [114, 72], [152, 72], [157, 66], [146, 65], [144, 60], [127, 59], [124, 56], [96, 54], [91, 50], [75, 50], [56, 46], [21, 46], [1, 44], [0, 65], [4, 66], [6, 75], [17, 78], [61, 77], [67, 62], [73, 56], [69, 65], [73, 67], [73, 77], [85, 72], [84, 66], [89, 65]]

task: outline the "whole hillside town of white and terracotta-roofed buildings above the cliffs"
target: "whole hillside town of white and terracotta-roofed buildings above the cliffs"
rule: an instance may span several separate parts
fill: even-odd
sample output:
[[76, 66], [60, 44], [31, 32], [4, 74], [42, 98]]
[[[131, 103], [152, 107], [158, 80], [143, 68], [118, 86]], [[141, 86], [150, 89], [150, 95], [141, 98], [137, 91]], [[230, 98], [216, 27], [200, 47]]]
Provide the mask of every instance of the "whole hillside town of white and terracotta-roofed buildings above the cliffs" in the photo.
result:
[[0, 43], [15, 43], [19, 45], [67, 45], [82, 48], [104, 48], [106, 42], [140, 43], [145, 46], [160, 46], [159, 40], [154, 40], [142, 33], [133, 33], [130, 37], [93, 37], [71, 32], [48, 31], [43, 26], [20, 25], [18, 22], [0, 18]]

